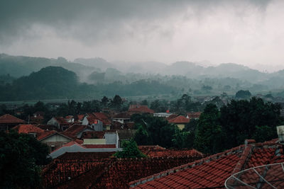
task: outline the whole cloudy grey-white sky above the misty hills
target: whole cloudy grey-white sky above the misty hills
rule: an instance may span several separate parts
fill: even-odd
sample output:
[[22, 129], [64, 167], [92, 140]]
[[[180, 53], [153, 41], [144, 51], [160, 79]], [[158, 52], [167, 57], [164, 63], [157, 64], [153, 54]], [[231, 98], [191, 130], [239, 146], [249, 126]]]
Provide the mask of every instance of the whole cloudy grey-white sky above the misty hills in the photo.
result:
[[281, 0], [1, 0], [0, 53], [284, 68]]

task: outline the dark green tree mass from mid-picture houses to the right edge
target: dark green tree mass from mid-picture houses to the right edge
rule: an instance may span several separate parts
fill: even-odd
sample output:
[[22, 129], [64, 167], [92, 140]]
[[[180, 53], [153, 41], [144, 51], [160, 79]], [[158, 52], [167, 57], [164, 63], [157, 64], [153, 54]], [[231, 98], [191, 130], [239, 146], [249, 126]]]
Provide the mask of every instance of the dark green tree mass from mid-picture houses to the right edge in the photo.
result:
[[276, 126], [283, 124], [280, 105], [265, 103], [261, 98], [231, 101], [218, 109], [206, 105], [199, 120], [191, 120], [183, 130], [162, 118], [133, 115], [139, 145], [160, 145], [167, 148], [195, 148], [215, 154], [244, 144], [245, 139], [263, 142], [277, 137]]

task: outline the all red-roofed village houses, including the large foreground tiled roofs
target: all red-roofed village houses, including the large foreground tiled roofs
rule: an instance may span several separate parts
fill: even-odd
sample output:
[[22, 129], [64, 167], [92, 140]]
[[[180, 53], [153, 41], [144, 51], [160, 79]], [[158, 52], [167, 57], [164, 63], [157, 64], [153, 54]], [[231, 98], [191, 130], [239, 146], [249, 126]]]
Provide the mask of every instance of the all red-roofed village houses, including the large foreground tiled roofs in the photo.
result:
[[43, 113], [35, 113], [31, 124], [3, 115], [0, 129], [12, 128], [48, 144], [53, 161], [43, 167], [44, 188], [284, 188], [280, 138], [263, 143], [246, 139], [213, 155], [139, 146], [146, 158], [116, 159], [112, 155], [121, 150], [121, 142], [136, 132], [130, 119], [134, 113], [151, 113], [180, 129], [201, 114], [154, 113], [145, 105], [131, 105], [123, 113], [56, 117], [46, 125]]

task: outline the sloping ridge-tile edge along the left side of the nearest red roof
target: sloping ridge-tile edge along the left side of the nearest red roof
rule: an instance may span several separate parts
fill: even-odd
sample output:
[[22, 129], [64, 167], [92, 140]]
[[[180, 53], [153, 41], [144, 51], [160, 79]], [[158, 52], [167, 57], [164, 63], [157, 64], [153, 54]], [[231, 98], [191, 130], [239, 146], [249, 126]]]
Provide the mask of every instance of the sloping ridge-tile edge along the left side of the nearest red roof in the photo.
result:
[[[138, 179], [136, 181], [131, 181], [131, 182], [129, 182], [129, 187], [132, 188], [136, 185], [141, 185], [141, 184], [147, 183], [148, 181], [153, 181], [155, 178], [161, 178], [161, 177], [164, 177], [164, 176], [168, 176], [171, 173], [177, 173], [179, 171], [183, 171], [186, 168], [192, 168], [196, 165], [202, 165], [204, 163], [209, 163], [210, 161], [217, 160], [217, 159], [221, 158], [222, 156], [229, 155], [228, 154], [229, 152], [233, 152], [233, 151], [237, 151], [238, 149], [242, 149], [244, 146], [245, 145], [242, 144], [239, 147], [234, 147], [232, 149], [228, 149], [226, 151], [223, 151], [223, 152], [220, 152], [220, 153], [217, 153], [217, 154], [213, 154], [211, 156], [207, 156], [207, 157], [204, 157], [202, 159], [198, 159], [196, 161], [192, 161], [192, 162], [187, 163], [187, 164], [183, 164], [181, 166], [170, 168], [168, 170], [161, 171], [160, 173], [155, 173], [152, 176], [147, 176], [147, 177]], [[149, 180], [149, 178], [151, 178], [151, 179]]]

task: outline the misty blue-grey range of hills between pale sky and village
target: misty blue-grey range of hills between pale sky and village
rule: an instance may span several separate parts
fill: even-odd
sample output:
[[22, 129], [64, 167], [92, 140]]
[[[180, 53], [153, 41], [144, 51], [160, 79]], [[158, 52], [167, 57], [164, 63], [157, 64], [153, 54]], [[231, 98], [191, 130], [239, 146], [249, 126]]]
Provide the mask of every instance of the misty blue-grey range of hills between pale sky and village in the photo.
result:
[[[284, 89], [284, 70], [268, 74], [233, 63], [204, 67], [195, 62], [175, 62], [167, 65], [160, 62], [107, 62], [102, 58], [80, 58], [70, 62], [63, 57], [48, 59], [0, 54], [0, 67], [0, 86], [10, 84], [8, 88], [13, 88], [14, 93], [17, 90], [23, 90], [23, 88], [19, 89], [20, 84], [26, 88], [31, 88], [33, 85], [40, 88], [42, 84], [33, 84], [33, 79], [27, 80], [25, 76], [31, 77], [39, 71], [46, 77], [46, 74], [40, 72], [46, 71], [43, 69], [45, 67], [61, 67], [75, 74], [77, 80], [72, 84], [75, 86], [73, 91], [80, 90], [80, 92], [69, 92], [73, 97], [112, 96], [116, 93], [124, 96], [189, 93], [194, 96], [218, 95], [223, 92], [234, 94], [240, 89], [250, 90], [253, 93], [280, 92]], [[38, 79], [40, 74], [36, 74]], [[59, 85], [53, 85], [56, 82], [53, 79], [44, 81], [50, 87], [59, 88], [60, 85], [64, 85], [64, 82], [60, 83], [60, 81]], [[39, 89], [35, 87], [33, 90]], [[38, 91], [40, 94], [38, 96], [62, 98], [69, 95], [56, 93], [49, 96], [48, 90], [52, 89], [45, 88], [46, 95]], [[31, 93], [26, 95], [25, 99], [30, 96]], [[6, 97], [9, 95], [6, 94]], [[6, 97], [2, 100], [6, 100]], [[31, 98], [34, 97], [34, 95], [31, 96]], [[15, 99], [11, 98], [11, 100]]]

